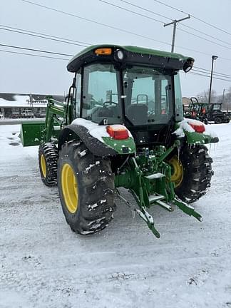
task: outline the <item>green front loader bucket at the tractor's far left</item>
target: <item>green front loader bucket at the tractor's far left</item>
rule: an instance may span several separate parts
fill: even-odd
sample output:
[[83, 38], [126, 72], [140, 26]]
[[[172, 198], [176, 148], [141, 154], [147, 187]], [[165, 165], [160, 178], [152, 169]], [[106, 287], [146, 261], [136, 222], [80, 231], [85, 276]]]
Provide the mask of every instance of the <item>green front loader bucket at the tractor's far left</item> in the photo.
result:
[[20, 138], [22, 145], [40, 145], [43, 141], [44, 121], [31, 121], [21, 123]]

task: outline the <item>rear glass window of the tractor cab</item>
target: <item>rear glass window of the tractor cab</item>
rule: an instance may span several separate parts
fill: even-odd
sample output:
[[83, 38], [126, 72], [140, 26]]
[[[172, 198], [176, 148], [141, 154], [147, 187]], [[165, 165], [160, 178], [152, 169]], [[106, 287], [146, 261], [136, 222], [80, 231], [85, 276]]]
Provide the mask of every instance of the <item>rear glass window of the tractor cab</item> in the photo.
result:
[[125, 116], [133, 125], [168, 123], [173, 116], [172, 78], [153, 68], [123, 71]]

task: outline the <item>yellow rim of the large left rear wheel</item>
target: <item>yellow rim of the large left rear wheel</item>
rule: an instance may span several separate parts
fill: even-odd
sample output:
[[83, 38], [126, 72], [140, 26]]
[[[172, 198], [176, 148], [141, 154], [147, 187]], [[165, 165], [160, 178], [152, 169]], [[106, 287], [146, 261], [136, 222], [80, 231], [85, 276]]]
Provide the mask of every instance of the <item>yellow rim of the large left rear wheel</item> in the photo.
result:
[[73, 214], [78, 209], [78, 184], [76, 175], [68, 163], [63, 165], [61, 171], [61, 187], [66, 207]]

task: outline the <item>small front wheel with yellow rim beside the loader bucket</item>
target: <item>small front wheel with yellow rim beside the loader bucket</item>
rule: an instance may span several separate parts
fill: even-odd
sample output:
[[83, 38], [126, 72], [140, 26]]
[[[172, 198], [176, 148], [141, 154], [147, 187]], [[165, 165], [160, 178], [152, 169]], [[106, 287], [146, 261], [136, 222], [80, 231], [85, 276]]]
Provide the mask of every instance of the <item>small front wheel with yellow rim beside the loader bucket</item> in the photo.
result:
[[54, 143], [42, 143], [39, 146], [39, 170], [46, 186], [57, 184], [57, 160], [58, 149]]

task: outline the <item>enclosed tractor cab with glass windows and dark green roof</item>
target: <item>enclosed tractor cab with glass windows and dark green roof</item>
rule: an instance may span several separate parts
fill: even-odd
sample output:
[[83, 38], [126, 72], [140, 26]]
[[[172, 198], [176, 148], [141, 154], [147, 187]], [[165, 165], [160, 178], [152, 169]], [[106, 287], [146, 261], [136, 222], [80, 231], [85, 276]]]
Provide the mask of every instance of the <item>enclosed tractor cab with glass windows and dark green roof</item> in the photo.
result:
[[183, 120], [178, 71], [192, 66], [193, 58], [176, 53], [132, 46], [86, 48], [67, 67], [75, 73], [73, 118], [124, 124], [137, 142], [153, 142], [158, 133], [149, 130], [168, 126], [165, 136], [175, 121]]

